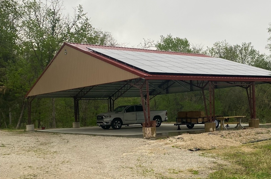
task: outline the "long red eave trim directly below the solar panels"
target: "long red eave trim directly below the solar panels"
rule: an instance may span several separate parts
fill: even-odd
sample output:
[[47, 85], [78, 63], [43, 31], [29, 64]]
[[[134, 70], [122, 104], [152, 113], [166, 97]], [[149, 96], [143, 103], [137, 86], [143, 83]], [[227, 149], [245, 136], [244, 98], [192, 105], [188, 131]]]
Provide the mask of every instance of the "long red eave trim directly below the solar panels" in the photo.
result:
[[209, 80], [209, 81], [260, 81], [271, 82], [271, 77], [231, 77], [231, 76], [191, 76], [191, 75], [152, 75], [145, 76], [150, 80]]

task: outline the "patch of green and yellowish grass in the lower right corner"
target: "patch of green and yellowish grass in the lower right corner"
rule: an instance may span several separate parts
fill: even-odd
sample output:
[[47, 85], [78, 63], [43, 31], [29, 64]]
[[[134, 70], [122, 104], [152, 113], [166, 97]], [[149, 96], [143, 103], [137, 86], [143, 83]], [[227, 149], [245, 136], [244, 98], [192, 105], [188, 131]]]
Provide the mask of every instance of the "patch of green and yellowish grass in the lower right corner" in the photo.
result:
[[220, 170], [211, 173], [209, 178], [271, 178], [270, 140], [208, 152], [231, 163], [230, 166], [223, 166]]

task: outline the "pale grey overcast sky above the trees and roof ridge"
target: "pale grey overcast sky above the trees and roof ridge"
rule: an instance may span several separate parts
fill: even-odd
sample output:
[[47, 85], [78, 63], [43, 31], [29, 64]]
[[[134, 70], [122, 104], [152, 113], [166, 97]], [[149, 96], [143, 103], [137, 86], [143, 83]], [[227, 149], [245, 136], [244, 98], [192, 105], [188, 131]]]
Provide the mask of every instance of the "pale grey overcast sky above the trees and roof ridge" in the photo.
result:
[[160, 35], [187, 38], [204, 47], [226, 39], [230, 44], [252, 42], [265, 49], [271, 22], [271, 1], [64, 0], [64, 12], [82, 4], [94, 27], [109, 31], [121, 43], [136, 46]]

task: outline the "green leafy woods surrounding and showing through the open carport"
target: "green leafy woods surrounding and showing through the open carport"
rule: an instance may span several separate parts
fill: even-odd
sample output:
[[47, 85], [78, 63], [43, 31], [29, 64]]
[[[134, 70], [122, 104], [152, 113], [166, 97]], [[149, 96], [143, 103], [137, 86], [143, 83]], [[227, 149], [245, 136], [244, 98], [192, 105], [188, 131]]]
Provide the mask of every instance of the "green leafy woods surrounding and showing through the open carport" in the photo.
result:
[[[50, 0], [0, 0], [0, 128], [25, 125], [27, 112], [24, 95], [46, 68], [63, 42], [122, 46], [110, 32], [94, 28], [82, 5], [74, 8], [72, 16], [63, 13], [63, 2]], [[268, 28], [271, 34], [271, 28]], [[270, 38], [267, 49], [271, 51]], [[157, 48], [176, 52], [205, 53], [239, 63], [270, 70], [270, 57], [243, 42], [230, 45], [226, 40], [203, 50], [201, 44], [191, 44], [186, 38], [161, 35], [155, 43], [143, 39], [138, 48]], [[257, 117], [271, 120], [270, 85], [256, 86]], [[140, 98], [119, 98], [115, 107], [139, 104]], [[80, 101], [80, 124], [96, 125], [96, 115], [107, 111], [107, 101]], [[201, 92], [166, 94], [150, 101], [151, 110], [168, 111], [174, 121], [178, 111], [204, 110]], [[242, 88], [217, 89], [216, 114], [249, 116], [246, 92]], [[35, 99], [32, 120], [36, 127], [71, 127], [74, 120], [72, 99]], [[8, 123], [9, 118], [9, 123]], [[17, 124], [17, 125], [16, 125]]]

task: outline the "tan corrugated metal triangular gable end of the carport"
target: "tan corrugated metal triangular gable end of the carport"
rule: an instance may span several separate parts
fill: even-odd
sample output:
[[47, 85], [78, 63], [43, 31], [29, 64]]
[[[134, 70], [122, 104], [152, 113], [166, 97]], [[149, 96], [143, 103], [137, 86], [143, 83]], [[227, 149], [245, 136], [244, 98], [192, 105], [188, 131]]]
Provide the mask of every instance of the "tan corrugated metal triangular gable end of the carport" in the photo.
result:
[[64, 45], [27, 97], [138, 77], [140, 76]]

